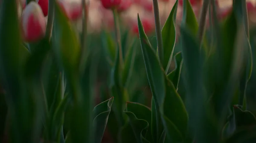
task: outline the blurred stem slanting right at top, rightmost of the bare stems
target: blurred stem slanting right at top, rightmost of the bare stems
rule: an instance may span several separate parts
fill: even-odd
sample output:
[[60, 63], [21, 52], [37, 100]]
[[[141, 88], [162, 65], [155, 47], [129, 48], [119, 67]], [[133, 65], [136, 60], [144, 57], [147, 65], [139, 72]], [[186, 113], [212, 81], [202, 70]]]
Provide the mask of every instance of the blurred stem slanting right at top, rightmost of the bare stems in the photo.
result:
[[204, 36], [204, 27], [206, 23], [206, 15], [207, 15], [208, 7], [209, 7], [209, 0], [204, 0], [203, 8], [200, 14], [199, 29], [198, 29], [198, 39], [199, 39], [200, 45], [202, 43], [203, 36]]

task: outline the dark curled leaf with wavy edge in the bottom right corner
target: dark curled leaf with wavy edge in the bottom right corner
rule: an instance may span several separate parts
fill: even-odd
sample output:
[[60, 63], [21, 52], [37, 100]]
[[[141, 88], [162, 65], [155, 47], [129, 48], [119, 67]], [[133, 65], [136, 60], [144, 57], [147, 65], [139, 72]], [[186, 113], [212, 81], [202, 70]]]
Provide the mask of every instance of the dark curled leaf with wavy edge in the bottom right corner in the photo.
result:
[[222, 139], [226, 140], [236, 131], [241, 129], [249, 129], [256, 126], [256, 118], [250, 111], [243, 111], [239, 105], [233, 106], [233, 114], [222, 130]]

